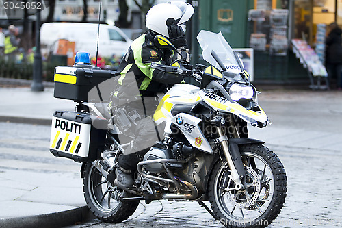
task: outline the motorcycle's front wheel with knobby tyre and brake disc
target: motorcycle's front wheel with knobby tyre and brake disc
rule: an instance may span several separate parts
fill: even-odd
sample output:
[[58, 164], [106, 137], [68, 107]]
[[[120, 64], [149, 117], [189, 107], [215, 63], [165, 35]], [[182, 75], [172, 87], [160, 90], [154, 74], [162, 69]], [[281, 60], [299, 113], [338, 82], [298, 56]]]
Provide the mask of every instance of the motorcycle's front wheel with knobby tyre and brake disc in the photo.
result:
[[[252, 144], [240, 147], [246, 170], [243, 190], [233, 190], [226, 160], [219, 160], [209, 181], [209, 201], [225, 227], [267, 227], [285, 203], [287, 177], [279, 158], [267, 147]], [[228, 172], [228, 173], [227, 173]]]

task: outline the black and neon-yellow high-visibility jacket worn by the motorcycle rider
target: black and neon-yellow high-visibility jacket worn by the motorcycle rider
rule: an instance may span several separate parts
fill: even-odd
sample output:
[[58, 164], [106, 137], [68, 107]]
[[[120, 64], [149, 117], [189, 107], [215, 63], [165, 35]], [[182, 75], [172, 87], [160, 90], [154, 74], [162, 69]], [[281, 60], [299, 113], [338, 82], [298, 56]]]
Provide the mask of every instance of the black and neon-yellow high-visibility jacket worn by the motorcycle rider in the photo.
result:
[[[129, 51], [122, 58], [116, 73], [120, 75], [118, 84], [124, 88], [136, 83], [140, 94], [151, 96], [157, 92], [163, 92], [166, 85], [181, 83], [183, 77], [180, 75], [151, 68], [153, 62], [170, 65], [172, 54], [170, 49], [155, 47], [153, 36], [150, 33], [143, 34], [133, 41]], [[122, 91], [119, 89], [118, 92]]]

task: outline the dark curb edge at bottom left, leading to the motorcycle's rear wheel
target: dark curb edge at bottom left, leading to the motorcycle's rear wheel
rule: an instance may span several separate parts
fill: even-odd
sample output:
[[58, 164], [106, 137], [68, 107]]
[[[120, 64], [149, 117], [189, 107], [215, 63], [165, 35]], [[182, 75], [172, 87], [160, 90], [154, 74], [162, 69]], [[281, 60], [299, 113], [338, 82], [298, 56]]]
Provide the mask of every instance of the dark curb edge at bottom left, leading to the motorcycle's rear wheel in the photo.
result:
[[87, 206], [78, 207], [64, 212], [40, 214], [18, 218], [0, 218], [1, 228], [36, 228], [36, 227], [65, 227], [88, 222], [95, 217]]

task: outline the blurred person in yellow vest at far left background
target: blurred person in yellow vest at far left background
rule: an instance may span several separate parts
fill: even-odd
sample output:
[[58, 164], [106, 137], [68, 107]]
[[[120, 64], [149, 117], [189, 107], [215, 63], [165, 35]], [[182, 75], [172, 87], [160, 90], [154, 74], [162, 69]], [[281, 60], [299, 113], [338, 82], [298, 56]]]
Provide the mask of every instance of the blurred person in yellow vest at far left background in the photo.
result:
[[14, 25], [8, 26], [8, 32], [5, 34], [3, 53], [8, 56], [8, 60], [11, 62], [15, 62], [18, 46], [21, 42], [21, 39], [16, 37], [18, 34], [19, 31]]

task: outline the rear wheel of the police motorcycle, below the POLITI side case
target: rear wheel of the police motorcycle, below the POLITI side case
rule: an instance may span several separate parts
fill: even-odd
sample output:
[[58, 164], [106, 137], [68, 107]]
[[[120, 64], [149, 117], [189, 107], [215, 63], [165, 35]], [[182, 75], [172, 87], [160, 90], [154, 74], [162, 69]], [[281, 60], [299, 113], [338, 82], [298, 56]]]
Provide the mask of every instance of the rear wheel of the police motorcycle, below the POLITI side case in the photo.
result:
[[120, 201], [120, 197], [130, 197], [129, 193], [107, 181], [91, 162], [84, 169], [83, 192], [92, 213], [106, 223], [126, 220], [139, 205], [139, 201]]

